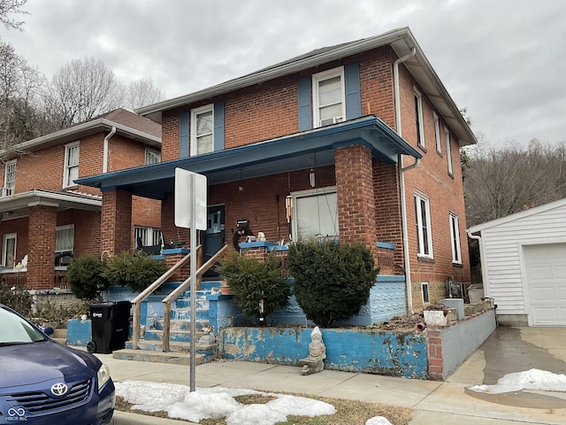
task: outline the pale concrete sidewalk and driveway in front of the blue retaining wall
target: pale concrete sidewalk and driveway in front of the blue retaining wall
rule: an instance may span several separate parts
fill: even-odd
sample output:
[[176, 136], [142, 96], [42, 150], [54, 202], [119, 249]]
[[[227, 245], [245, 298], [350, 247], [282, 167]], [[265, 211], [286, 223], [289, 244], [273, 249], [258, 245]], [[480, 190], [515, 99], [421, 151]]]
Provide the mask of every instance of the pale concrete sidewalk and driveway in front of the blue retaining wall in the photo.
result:
[[[273, 392], [299, 392], [330, 398], [356, 399], [378, 402], [395, 406], [407, 406], [414, 409], [411, 425], [429, 425], [437, 422], [482, 425], [526, 424], [564, 424], [566, 423], [566, 393], [547, 391], [518, 391], [499, 396], [478, 394], [467, 390], [468, 387], [486, 382], [485, 371], [490, 370], [486, 358], [494, 355], [493, 351], [508, 352], [517, 355], [517, 344], [527, 352], [518, 358], [516, 366], [511, 360], [501, 370], [502, 375], [510, 372], [522, 372], [529, 368], [540, 368], [553, 373], [562, 370], [550, 370], [548, 359], [555, 359], [555, 367], [566, 368], [566, 344], [562, 336], [564, 331], [556, 332], [527, 330], [505, 330], [498, 328], [476, 352], [459, 367], [446, 382], [432, 382], [395, 378], [382, 375], [324, 370], [315, 375], [301, 375], [300, 367], [275, 366], [245, 361], [218, 361], [196, 367], [195, 383], [197, 387], [228, 387], [264, 390]], [[555, 328], [556, 329], [556, 328]], [[505, 338], [519, 335], [516, 338]], [[529, 342], [529, 339], [531, 342]], [[534, 344], [533, 344], [534, 343]], [[532, 345], [532, 346], [531, 346]], [[546, 345], [552, 346], [547, 348]], [[526, 349], [525, 349], [526, 347]], [[531, 356], [531, 349], [536, 356]], [[539, 358], [541, 352], [548, 358]], [[149, 381], [155, 383], [189, 383], [189, 367], [161, 363], [138, 362], [113, 359], [111, 354], [97, 354], [111, 368], [114, 381]], [[563, 357], [562, 357], [563, 356]], [[511, 358], [511, 357], [510, 357]], [[522, 363], [526, 362], [526, 363]], [[542, 363], [537, 363], [542, 362]], [[515, 361], [516, 363], [516, 361]], [[530, 366], [526, 367], [525, 366]], [[518, 370], [511, 370], [513, 368]], [[502, 376], [501, 375], [501, 376]], [[499, 376], [499, 377], [501, 377]], [[489, 379], [494, 379], [491, 376]], [[494, 379], [495, 382], [497, 379]], [[494, 382], [493, 382], [494, 383]], [[150, 418], [146, 421], [141, 415], [117, 413], [117, 425], [130, 423], [177, 423], [179, 421]], [[184, 422], [187, 423], [187, 422]]]

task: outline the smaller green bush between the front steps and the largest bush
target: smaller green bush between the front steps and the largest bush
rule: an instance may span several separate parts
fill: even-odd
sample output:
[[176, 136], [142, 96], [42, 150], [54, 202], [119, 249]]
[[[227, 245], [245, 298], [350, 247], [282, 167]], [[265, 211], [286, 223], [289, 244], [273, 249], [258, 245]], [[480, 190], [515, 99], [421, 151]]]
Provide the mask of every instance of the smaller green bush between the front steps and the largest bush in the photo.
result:
[[285, 308], [291, 296], [287, 279], [281, 277], [280, 260], [270, 253], [266, 261], [245, 257], [236, 251], [220, 260], [216, 270], [233, 291], [233, 304], [249, 318], [260, 317], [264, 300], [264, 316]]

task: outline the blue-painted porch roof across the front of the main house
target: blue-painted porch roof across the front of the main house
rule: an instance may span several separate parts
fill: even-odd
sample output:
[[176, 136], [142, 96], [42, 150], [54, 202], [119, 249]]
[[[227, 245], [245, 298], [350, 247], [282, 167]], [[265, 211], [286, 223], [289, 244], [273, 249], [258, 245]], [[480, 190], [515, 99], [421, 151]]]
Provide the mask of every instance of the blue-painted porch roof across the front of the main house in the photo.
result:
[[164, 199], [174, 189], [175, 168], [204, 174], [209, 185], [236, 182], [332, 165], [335, 149], [358, 143], [369, 147], [372, 156], [386, 164], [397, 163], [399, 155], [422, 157], [382, 120], [369, 115], [224, 151], [83, 177], [75, 182], [103, 191], [121, 189], [141, 197]]

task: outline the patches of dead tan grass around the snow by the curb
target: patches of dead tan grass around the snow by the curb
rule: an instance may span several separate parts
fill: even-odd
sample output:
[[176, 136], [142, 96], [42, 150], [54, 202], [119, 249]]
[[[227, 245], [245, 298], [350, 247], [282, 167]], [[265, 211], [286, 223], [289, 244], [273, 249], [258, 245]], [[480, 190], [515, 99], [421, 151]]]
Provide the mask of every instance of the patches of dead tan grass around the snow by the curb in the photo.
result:
[[[310, 396], [305, 394], [291, 394], [298, 397], [313, 398], [329, 403], [336, 408], [337, 413], [328, 416], [287, 416], [287, 421], [279, 422], [278, 425], [364, 425], [365, 422], [374, 416], [383, 416], [393, 425], [408, 425], [413, 410], [409, 407], [383, 405], [381, 403], [367, 403], [358, 400], [344, 400], [341, 398], [325, 398]], [[246, 395], [236, 397], [236, 401], [243, 405], [264, 404], [274, 397], [266, 395]], [[147, 414], [166, 418], [167, 413], [157, 412], [148, 413], [141, 410], [132, 410], [132, 404], [124, 401], [123, 398], [116, 398], [116, 409], [123, 412]], [[201, 425], [226, 425], [225, 419], [203, 419]]]

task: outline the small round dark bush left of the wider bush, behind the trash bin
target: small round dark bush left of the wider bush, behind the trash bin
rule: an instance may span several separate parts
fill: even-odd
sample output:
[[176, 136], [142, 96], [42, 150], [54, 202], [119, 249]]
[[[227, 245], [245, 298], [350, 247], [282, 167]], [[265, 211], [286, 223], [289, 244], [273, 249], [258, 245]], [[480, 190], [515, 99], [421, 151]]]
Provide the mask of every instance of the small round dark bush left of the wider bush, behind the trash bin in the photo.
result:
[[103, 276], [105, 262], [92, 254], [71, 259], [67, 266], [67, 282], [75, 297], [86, 300], [100, 300], [100, 291], [108, 288]]

